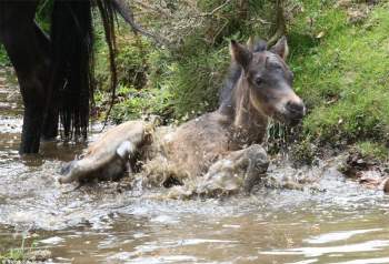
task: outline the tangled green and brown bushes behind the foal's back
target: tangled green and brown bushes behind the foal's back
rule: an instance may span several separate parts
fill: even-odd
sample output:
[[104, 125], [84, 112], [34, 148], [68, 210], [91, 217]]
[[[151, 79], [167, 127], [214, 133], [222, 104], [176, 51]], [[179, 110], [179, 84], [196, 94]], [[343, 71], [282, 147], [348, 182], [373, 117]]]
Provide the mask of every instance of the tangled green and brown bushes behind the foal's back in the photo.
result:
[[[118, 34], [121, 91], [113, 109], [120, 122], [142, 113], [187, 120], [218, 105], [230, 63], [229, 40], [270, 37], [275, 4], [266, 0], [130, 1], [136, 20], [163, 45], [123, 30]], [[98, 83], [107, 81], [103, 45], [98, 49]], [[124, 88], [124, 89], [123, 89]], [[136, 91], [136, 92], [133, 92]], [[130, 102], [133, 100], [133, 102]]]

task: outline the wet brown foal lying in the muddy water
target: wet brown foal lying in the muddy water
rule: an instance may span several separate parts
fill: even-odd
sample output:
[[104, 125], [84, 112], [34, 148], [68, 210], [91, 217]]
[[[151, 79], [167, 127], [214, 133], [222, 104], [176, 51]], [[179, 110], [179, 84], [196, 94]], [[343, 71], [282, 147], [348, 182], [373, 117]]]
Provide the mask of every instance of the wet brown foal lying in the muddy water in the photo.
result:
[[249, 47], [231, 41], [230, 51], [231, 73], [217, 111], [168, 132], [160, 126], [148, 133], [150, 125], [142, 121], [123, 123], [93, 143], [82, 160], [68, 165], [60, 182], [116, 177], [136, 152], [149, 182], [166, 186], [198, 176], [237, 174], [242, 174], [245, 186], [262, 175], [268, 160], [259, 144], [268, 118], [296, 125], [305, 115], [305, 104], [292, 90], [286, 38], [270, 50], [265, 41]]

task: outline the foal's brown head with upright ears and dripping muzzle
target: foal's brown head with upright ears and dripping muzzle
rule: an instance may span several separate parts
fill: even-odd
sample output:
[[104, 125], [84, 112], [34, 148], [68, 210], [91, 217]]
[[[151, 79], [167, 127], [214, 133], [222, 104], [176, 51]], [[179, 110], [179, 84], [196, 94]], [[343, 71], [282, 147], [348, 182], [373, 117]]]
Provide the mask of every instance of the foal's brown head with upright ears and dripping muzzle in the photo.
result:
[[256, 47], [231, 41], [231, 54], [243, 69], [240, 85], [248, 87], [250, 104], [262, 114], [286, 124], [298, 124], [306, 108], [292, 90], [293, 73], [286, 63], [286, 38], [281, 38], [270, 50], [263, 41]]

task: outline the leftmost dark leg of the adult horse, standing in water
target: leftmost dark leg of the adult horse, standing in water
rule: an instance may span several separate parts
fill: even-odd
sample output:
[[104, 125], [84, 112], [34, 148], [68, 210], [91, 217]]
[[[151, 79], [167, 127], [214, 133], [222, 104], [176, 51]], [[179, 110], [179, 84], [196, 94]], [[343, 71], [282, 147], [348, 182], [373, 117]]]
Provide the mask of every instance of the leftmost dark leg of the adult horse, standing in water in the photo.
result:
[[20, 153], [37, 153], [46, 105], [48, 59], [39, 48], [37, 1], [1, 1], [0, 40], [14, 67], [24, 103]]

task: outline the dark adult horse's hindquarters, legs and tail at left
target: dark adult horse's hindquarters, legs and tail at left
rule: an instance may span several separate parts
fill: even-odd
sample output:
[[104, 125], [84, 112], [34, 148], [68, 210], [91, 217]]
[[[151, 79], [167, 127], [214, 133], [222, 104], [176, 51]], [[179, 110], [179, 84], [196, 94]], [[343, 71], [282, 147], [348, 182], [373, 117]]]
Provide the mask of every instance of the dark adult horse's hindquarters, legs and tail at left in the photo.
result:
[[66, 138], [87, 136], [93, 92], [93, 7], [106, 31], [112, 89], [114, 12], [142, 33], [121, 0], [53, 0], [49, 37], [34, 21], [38, 4], [39, 0], [0, 1], [0, 42], [14, 67], [24, 103], [20, 153], [37, 153], [41, 138], [56, 138], [59, 121]]

